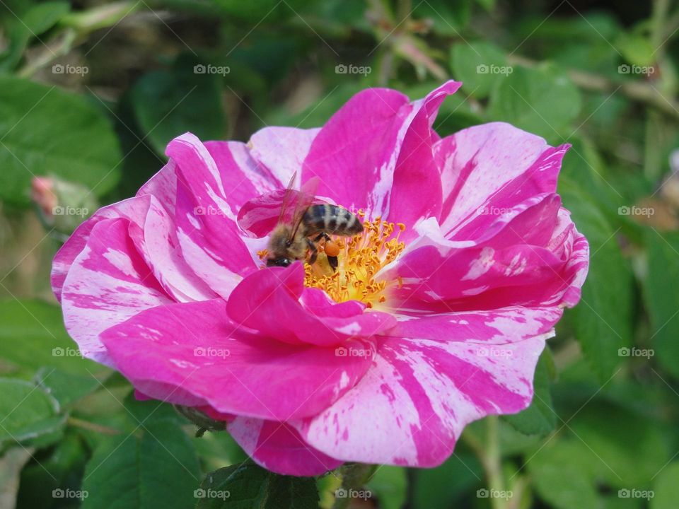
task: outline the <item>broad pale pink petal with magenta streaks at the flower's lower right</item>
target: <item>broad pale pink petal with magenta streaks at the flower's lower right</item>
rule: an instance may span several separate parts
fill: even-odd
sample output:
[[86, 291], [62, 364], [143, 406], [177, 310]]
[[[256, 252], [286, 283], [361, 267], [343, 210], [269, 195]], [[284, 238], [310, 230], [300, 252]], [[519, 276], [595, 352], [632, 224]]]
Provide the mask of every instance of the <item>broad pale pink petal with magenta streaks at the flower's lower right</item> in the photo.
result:
[[436, 467], [467, 423], [530, 404], [547, 336], [492, 347], [388, 338], [352, 390], [295, 426], [338, 460]]

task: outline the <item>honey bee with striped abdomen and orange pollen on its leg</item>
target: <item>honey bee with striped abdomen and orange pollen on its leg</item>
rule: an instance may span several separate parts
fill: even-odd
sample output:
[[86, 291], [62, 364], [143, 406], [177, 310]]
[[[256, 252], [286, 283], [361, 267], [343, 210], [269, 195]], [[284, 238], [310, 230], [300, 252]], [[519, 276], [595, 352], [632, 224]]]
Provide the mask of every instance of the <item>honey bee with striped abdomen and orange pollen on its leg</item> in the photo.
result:
[[311, 204], [314, 198], [311, 187], [315, 186], [315, 180], [308, 182], [297, 193], [291, 221], [286, 221], [289, 206], [296, 194], [292, 189], [295, 177], [293, 175], [286, 189], [277, 226], [269, 238], [267, 267], [287, 267], [295, 260], [306, 259], [307, 251], [311, 252], [307, 263], [313, 265], [318, 257], [318, 242], [323, 240], [327, 262], [335, 271], [339, 264], [337, 255], [340, 254], [340, 247], [330, 235], [352, 237], [363, 231], [363, 223], [356, 214], [341, 206]]

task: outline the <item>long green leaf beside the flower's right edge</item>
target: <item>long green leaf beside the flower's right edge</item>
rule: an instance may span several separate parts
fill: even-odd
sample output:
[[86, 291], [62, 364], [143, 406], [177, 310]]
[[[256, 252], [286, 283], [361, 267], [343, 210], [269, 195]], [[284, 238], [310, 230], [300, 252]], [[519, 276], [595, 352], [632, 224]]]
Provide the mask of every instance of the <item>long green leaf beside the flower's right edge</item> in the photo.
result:
[[619, 351], [632, 344], [634, 279], [622, 257], [616, 230], [574, 182], [559, 183], [564, 206], [590, 246], [590, 266], [582, 298], [569, 310], [575, 337], [600, 382], [606, 382], [622, 361]]

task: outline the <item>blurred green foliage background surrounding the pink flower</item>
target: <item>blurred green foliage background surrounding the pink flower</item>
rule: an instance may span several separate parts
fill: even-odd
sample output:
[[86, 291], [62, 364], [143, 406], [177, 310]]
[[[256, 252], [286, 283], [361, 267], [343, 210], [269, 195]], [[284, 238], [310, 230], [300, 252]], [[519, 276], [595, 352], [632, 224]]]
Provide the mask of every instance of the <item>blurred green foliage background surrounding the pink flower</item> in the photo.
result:
[[[572, 144], [559, 192], [590, 274], [529, 409], [436, 469], [378, 468], [351, 507], [679, 507], [678, 64], [673, 0], [0, 0], [0, 507], [226, 506], [194, 490], [243, 452], [79, 357], [54, 252], [178, 134], [317, 127], [363, 88], [447, 78], [441, 135], [502, 120]], [[337, 482], [314, 482], [330, 508]]]

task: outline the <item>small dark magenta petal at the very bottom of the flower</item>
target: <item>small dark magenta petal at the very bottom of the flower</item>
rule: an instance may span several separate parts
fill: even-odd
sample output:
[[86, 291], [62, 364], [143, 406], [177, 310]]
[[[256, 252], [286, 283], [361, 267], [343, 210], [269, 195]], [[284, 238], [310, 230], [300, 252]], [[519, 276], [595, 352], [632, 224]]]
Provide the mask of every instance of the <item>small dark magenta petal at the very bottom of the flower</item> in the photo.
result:
[[277, 474], [317, 476], [342, 464], [304, 443], [286, 423], [237, 417], [228, 432], [257, 464]]

